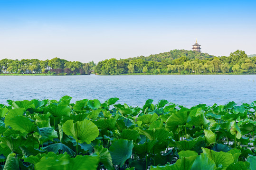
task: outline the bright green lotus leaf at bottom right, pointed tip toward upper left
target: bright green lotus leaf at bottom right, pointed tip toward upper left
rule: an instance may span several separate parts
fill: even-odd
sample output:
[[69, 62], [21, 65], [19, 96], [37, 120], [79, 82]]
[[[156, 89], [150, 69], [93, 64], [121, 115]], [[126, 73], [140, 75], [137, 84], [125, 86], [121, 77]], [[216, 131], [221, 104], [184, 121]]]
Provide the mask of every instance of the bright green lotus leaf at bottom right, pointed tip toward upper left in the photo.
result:
[[208, 148], [203, 148], [203, 153], [206, 153], [209, 159], [213, 160], [216, 164], [216, 167], [222, 165], [223, 170], [226, 170], [231, 163], [234, 163], [233, 155], [231, 153], [225, 152], [215, 152], [209, 150]]

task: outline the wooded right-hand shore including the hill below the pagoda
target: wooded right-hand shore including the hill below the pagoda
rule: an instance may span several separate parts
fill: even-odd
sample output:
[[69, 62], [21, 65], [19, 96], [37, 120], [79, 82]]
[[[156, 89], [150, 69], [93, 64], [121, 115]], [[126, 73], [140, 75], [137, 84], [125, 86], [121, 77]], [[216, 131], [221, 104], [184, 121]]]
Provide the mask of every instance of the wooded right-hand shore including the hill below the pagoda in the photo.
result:
[[229, 56], [216, 57], [197, 51], [173, 50], [170, 52], [129, 59], [106, 59], [95, 67], [100, 75], [148, 74], [207, 74], [256, 73], [256, 57], [245, 51], [234, 51]]

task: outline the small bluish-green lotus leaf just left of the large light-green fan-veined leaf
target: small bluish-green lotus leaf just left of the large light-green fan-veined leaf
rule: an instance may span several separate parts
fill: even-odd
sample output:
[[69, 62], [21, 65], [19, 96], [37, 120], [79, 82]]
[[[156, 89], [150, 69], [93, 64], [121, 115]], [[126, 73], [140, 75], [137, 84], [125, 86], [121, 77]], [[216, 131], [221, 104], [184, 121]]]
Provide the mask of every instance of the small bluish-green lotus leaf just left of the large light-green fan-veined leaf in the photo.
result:
[[57, 132], [53, 129], [53, 127], [42, 127], [39, 128], [39, 138], [38, 140], [42, 143], [46, 141], [52, 141], [54, 138], [57, 138]]

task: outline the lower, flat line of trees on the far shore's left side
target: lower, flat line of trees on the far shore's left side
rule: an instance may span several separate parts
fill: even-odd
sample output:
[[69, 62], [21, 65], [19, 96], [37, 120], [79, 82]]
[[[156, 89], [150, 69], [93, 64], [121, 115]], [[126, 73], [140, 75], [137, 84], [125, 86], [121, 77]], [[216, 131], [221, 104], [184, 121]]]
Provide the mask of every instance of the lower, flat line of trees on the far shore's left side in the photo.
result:
[[50, 60], [0, 60], [0, 71], [3, 74], [88, 75], [93, 67], [95, 67], [94, 61], [82, 63], [57, 57]]

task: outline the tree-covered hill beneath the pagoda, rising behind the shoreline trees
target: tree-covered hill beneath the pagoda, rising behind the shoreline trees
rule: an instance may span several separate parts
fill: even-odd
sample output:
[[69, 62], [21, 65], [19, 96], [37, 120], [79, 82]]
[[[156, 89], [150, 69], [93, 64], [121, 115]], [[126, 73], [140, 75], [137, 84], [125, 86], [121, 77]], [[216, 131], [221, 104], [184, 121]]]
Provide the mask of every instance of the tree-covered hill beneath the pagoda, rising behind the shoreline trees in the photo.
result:
[[202, 53], [198, 51], [188, 51], [188, 50], [171, 50], [169, 52], [163, 52], [160, 54], [152, 54], [148, 57], [140, 56], [134, 58], [128, 58], [129, 60], [133, 59], [143, 59], [146, 61], [157, 61], [161, 62], [163, 59], [166, 59], [168, 62], [171, 62], [173, 59], [179, 59], [180, 57], [186, 56], [188, 59], [209, 59], [215, 56], [209, 55], [207, 53]]

